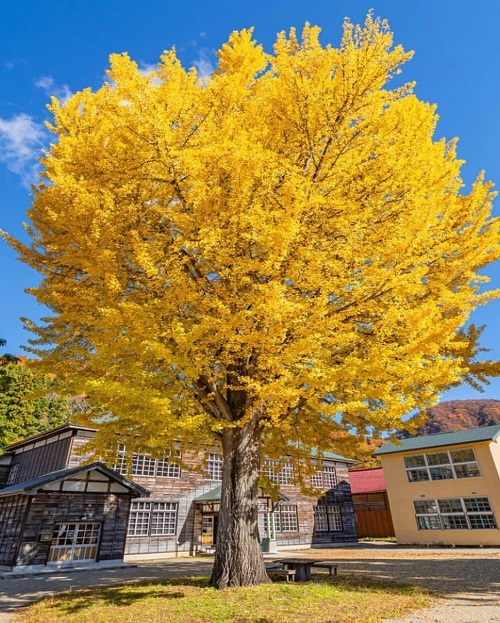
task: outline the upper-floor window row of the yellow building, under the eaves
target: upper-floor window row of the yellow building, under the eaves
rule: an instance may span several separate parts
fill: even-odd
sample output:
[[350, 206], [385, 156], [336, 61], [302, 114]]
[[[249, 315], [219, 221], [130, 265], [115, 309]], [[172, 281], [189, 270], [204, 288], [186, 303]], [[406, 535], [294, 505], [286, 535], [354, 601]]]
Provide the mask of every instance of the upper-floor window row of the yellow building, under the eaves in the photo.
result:
[[404, 462], [410, 482], [481, 476], [479, 464], [472, 448], [413, 454], [406, 456]]

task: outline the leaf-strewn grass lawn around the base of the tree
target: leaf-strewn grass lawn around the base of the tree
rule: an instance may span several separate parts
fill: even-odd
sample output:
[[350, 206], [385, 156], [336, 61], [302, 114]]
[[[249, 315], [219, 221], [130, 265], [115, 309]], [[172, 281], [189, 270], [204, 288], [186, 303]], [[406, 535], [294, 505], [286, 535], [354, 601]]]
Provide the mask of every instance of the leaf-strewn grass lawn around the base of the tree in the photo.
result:
[[325, 575], [216, 591], [207, 578], [63, 593], [20, 611], [16, 623], [375, 623], [430, 602], [421, 588]]

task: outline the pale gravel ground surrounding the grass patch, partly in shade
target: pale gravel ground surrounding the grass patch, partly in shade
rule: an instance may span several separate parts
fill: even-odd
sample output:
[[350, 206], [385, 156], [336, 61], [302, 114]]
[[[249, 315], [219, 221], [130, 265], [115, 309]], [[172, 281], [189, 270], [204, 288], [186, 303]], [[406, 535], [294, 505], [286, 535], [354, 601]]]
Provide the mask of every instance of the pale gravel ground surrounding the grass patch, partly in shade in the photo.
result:
[[[280, 552], [334, 559], [339, 575], [363, 575], [419, 584], [438, 593], [433, 606], [386, 623], [500, 623], [500, 549], [402, 548], [358, 544], [322, 550]], [[178, 558], [122, 568], [0, 576], [0, 623], [15, 621], [15, 610], [67, 590], [151, 578], [208, 575], [210, 559]]]

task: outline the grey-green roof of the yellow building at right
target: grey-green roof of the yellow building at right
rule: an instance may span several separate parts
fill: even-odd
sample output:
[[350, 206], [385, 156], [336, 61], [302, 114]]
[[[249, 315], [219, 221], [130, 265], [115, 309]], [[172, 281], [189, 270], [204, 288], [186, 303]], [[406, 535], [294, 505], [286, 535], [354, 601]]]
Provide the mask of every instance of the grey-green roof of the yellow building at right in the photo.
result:
[[400, 439], [398, 443], [388, 443], [379, 448], [374, 456], [381, 454], [395, 454], [414, 450], [428, 450], [443, 446], [457, 446], [464, 443], [478, 443], [481, 441], [496, 441], [500, 439], [500, 424], [481, 426], [469, 430], [458, 430], [452, 433], [437, 433], [436, 435], [422, 435]]

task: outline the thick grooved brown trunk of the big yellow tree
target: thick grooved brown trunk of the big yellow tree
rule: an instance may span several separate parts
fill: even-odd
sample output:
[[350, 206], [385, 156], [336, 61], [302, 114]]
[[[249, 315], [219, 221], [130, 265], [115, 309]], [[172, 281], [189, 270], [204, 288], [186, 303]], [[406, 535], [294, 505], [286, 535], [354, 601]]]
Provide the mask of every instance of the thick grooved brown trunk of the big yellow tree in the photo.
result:
[[221, 506], [210, 580], [216, 588], [269, 582], [257, 524], [260, 434], [254, 421], [223, 433]]

